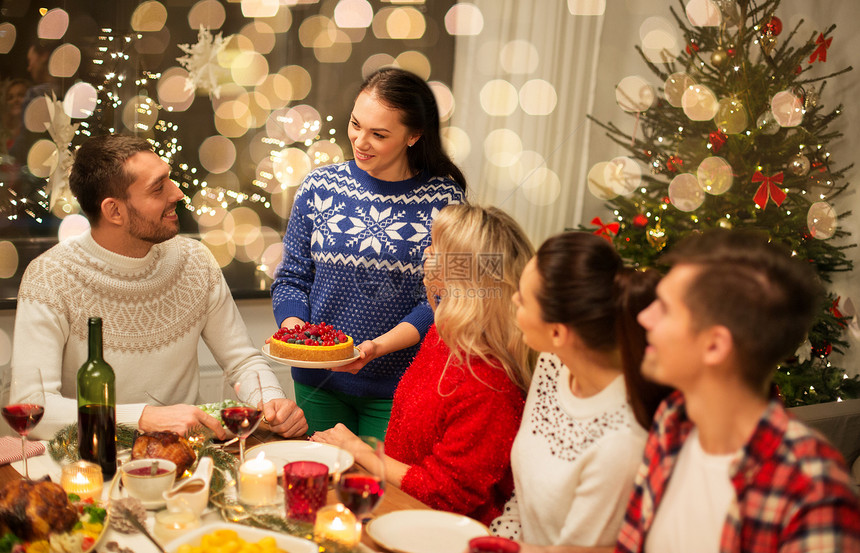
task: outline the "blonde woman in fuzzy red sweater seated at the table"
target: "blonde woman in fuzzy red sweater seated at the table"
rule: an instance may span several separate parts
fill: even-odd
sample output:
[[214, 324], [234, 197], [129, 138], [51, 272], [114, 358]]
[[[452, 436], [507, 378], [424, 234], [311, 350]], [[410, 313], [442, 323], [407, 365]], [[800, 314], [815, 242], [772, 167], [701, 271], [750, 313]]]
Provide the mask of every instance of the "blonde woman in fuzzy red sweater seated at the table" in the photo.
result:
[[[513, 490], [510, 451], [534, 355], [512, 297], [534, 249], [496, 208], [449, 205], [433, 223], [424, 284], [435, 323], [397, 387], [384, 472], [434, 509], [489, 523]], [[314, 441], [380, 461], [342, 424]]]

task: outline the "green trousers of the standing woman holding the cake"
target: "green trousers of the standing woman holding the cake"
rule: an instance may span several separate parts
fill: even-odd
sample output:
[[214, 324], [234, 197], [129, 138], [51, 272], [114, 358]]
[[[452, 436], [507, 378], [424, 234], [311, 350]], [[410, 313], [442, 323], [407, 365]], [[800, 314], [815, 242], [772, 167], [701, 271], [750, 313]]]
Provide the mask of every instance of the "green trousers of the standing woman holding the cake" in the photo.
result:
[[342, 422], [356, 436], [374, 436], [385, 439], [388, 419], [391, 417], [391, 400], [357, 397], [306, 386], [294, 382], [296, 403], [305, 412], [308, 434], [328, 430]]

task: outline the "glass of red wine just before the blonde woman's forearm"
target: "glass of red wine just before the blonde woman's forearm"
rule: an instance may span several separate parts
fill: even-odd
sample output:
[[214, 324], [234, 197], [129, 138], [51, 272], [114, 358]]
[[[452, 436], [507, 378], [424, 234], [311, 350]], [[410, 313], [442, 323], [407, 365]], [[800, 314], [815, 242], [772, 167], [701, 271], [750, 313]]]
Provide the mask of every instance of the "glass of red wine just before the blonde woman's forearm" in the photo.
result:
[[382, 440], [373, 436], [361, 436], [361, 440], [373, 450], [373, 463], [341, 472], [335, 489], [340, 502], [366, 522], [385, 493], [385, 451]]

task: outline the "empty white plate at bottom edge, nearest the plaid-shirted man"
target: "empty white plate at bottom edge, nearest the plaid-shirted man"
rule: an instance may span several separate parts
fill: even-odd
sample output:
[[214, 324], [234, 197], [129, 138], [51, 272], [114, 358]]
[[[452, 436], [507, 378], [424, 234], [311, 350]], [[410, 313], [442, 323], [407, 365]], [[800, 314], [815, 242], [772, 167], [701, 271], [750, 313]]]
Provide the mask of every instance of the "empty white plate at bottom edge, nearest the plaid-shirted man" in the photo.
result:
[[470, 539], [490, 535], [487, 527], [477, 520], [426, 509], [384, 514], [368, 523], [367, 533], [394, 553], [466, 551]]

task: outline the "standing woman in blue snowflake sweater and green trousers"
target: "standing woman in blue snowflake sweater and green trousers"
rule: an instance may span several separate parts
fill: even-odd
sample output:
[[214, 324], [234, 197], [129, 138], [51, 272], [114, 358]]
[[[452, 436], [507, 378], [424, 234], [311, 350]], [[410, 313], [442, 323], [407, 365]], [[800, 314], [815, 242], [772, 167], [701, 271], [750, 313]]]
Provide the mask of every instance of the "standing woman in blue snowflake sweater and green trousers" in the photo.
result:
[[293, 368], [309, 432], [338, 422], [384, 438], [391, 398], [433, 322], [422, 254], [436, 213], [465, 201], [466, 180], [442, 149], [435, 98], [420, 77], [385, 68], [362, 84], [349, 121], [354, 160], [312, 171], [296, 192], [275, 272], [276, 322], [326, 322], [361, 357]]

